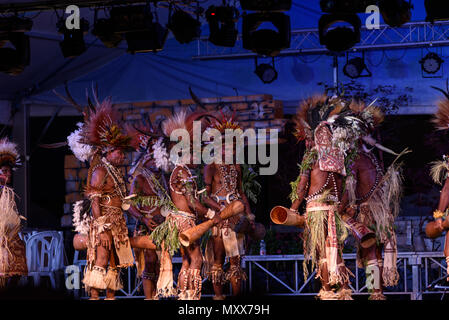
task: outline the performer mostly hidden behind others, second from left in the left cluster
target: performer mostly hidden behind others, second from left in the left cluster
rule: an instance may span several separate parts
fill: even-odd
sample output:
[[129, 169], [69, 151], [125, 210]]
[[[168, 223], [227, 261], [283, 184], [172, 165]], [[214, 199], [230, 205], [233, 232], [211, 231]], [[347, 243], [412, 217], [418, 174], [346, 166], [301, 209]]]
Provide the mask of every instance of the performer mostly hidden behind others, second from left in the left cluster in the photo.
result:
[[[168, 153], [164, 138], [156, 133], [151, 123], [139, 124], [130, 130], [133, 146], [139, 151], [138, 160], [131, 169], [130, 194], [133, 205], [129, 213], [137, 219], [135, 236], [150, 235], [159, 226], [174, 204], [168, 196], [168, 184], [164, 173], [169, 169]], [[142, 278], [146, 300], [176, 296], [173, 274], [167, 272], [166, 250], [134, 249], [137, 274]], [[161, 255], [163, 259], [159, 259]], [[170, 259], [170, 257], [168, 257]], [[160, 271], [159, 260], [162, 261]], [[158, 275], [161, 275], [158, 280]], [[157, 281], [157, 283], [156, 283]]]

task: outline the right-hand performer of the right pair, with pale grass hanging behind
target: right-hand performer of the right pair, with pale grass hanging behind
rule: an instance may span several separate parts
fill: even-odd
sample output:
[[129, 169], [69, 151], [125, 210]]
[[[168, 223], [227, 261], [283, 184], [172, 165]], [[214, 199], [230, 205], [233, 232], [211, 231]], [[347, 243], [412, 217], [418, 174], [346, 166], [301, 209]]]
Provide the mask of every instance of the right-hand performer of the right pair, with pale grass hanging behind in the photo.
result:
[[[379, 108], [352, 102], [349, 109], [333, 124], [335, 144], [348, 155], [350, 167], [339, 211], [343, 220], [354, 219], [375, 232], [374, 245], [365, 248], [357, 243], [357, 263], [365, 268], [369, 299], [385, 300], [382, 286], [395, 286], [399, 280], [394, 220], [399, 213], [402, 178], [396, 161], [408, 151], [398, 155], [370, 136], [384, 118]], [[372, 151], [374, 146], [397, 156], [385, 173]]]

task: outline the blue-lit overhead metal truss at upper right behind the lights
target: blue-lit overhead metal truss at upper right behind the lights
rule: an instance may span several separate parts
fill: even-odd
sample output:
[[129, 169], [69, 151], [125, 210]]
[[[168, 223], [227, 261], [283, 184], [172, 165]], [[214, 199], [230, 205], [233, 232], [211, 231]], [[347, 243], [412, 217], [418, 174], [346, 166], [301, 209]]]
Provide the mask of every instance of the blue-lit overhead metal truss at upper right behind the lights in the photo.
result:
[[[380, 25], [379, 29], [361, 29], [360, 42], [351, 51], [391, 50], [405, 48], [422, 48], [449, 45], [449, 21], [411, 22], [398, 28]], [[255, 57], [257, 54], [243, 49], [242, 35], [238, 35], [233, 48], [217, 47], [208, 41], [207, 37], [198, 40], [197, 55], [193, 59], [235, 59]], [[290, 48], [281, 51], [280, 56], [286, 55], [329, 54], [320, 45], [318, 29], [300, 29], [291, 32]]]

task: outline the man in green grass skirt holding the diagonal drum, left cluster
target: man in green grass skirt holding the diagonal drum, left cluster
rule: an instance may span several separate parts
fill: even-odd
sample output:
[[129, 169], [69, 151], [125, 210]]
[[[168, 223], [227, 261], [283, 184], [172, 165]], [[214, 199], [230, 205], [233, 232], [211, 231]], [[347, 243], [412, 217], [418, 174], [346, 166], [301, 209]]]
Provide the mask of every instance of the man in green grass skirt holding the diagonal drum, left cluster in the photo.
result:
[[[215, 214], [220, 210], [219, 206], [214, 211], [206, 208], [200, 202], [199, 194], [201, 191], [198, 190], [196, 177], [191, 172], [191, 169], [196, 166], [193, 164], [195, 160], [192, 161], [192, 156], [195, 157], [195, 153], [191, 151], [193, 125], [195, 121], [205, 120], [205, 115], [204, 112], [187, 114], [186, 111], [181, 111], [162, 123], [164, 135], [167, 138], [172, 133], [174, 135], [172, 138], [183, 136], [180, 143], [184, 143], [184, 147], [189, 150], [189, 152], [179, 156], [177, 152], [173, 151], [175, 145], [178, 144], [172, 141], [167, 147], [167, 151], [173, 157], [170, 158], [170, 161], [174, 164], [168, 186], [170, 198], [175, 207], [168, 213], [164, 223], [156, 227], [151, 234], [153, 242], [162, 247], [163, 250], [168, 251], [170, 255], [173, 255], [178, 249], [181, 250], [182, 267], [178, 275], [179, 300], [199, 300], [201, 298], [201, 267], [203, 263], [199, 242], [196, 241], [189, 246], [183, 246], [180, 243], [179, 234], [194, 227], [198, 218], [211, 219], [214, 224], [221, 221], [220, 216]], [[185, 135], [188, 136], [187, 141], [184, 140]]]

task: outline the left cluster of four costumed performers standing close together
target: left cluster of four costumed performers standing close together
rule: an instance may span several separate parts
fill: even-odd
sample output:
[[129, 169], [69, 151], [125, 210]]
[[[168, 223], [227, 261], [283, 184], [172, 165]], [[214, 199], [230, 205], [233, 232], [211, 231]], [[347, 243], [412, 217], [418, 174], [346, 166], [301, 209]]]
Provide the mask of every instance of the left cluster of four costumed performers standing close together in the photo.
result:
[[[91, 299], [98, 299], [100, 290], [106, 290], [106, 299], [114, 299], [122, 286], [119, 270], [134, 262], [149, 300], [199, 300], [204, 277], [212, 281], [216, 300], [224, 299], [223, 284], [228, 281], [233, 296], [240, 294], [246, 279], [241, 267], [244, 232], [254, 231], [255, 216], [242, 188], [240, 165], [216, 161], [198, 168], [186, 158], [169, 156], [176, 145], [170, 141], [172, 132], [185, 129], [192, 139], [195, 121], [201, 121], [204, 130], [221, 133], [239, 128], [224, 114], [186, 111], [158, 128], [151, 121], [122, 125], [111, 101], [105, 100], [86, 109], [84, 123], [68, 137], [75, 156], [90, 163], [85, 199], [74, 205], [73, 221], [78, 232], [75, 247], [87, 247], [83, 283]], [[129, 172], [129, 188], [120, 170], [128, 151], [138, 154]], [[193, 154], [185, 156], [190, 159]], [[199, 180], [200, 175], [204, 179]], [[137, 221], [133, 236], [128, 235], [124, 211]], [[225, 211], [230, 217], [222, 219]], [[202, 221], [211, 223], [203, 231], [195, 229]], [[247, 228], [241, 228], [245, 224]], [[193, 232], [193, 240], [182, 241], [186, 231]], [[204, 258], [200, 237], [206, 241]], [[177, 251], [182, 267], [175, 288], [172, 257]], [[230, 263], [227, 272], [225, 257]]]

